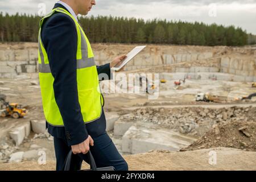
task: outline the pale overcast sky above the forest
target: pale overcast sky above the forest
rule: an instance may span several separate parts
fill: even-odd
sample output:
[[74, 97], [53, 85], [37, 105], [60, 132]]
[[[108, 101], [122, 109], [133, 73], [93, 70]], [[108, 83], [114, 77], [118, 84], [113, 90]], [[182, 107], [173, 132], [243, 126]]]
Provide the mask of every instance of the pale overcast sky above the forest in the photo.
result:
[[[0, 11], [9, 14], [51, 11], [55, 0], [0, 0]], [[96, 0], [88, 15], [113, 15], [147, 19], [184, 20], [242, 27], [256, 35], [256, 0]]]

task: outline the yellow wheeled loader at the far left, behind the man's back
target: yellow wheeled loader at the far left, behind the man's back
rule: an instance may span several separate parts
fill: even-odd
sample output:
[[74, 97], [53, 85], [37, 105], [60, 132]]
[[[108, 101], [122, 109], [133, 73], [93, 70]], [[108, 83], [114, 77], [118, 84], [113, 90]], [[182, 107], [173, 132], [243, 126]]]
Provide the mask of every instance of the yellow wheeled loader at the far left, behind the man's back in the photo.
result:
[[24, 117], [24, 115], [27, 114], [27, 110], [22, 108], [22, 106], [18, 105], [17, 103], [9, 104], [9, 102], [5, 102], [4, 106], [5, 109], [1, 111], [2, 117], [7, 117], [11, 115], [11, 117], [18, 119]]

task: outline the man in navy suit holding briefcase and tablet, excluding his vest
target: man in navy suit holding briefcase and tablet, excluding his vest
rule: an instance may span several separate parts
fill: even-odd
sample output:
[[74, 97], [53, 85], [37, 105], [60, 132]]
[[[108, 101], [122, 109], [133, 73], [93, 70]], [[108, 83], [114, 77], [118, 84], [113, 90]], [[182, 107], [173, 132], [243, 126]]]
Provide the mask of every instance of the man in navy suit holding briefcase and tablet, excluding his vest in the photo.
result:
[[[61, 7], [77, 20], [78, 14], [88, 14], [93, 5], [96, 5], [94, 0], [63, 0], [57, 2], [53, 9]], [[73, 19], [64, 13], [54, 13], [44, 20], [40, 35], [54, 77], [56, 104], [64, 121], [63, 127], [52, 126], [46, 122], [49, 134], [54, 137], [56, 170], [63, 169], [64, 160], [70, 150], [73, 151], [71, 163], [73, 170], [81, 168], [82, 160], [88, 162], [86, 153], [89, 150], [97, 167], [114, 166], [117, 170], [128, 170], [126, 161], [106, 133], [103, 109], [100, 118], [96, 121], [85, 124], [81, 117], [77, 99], [77, 70], [74, 66], [77, 54], [77, 30]], [[110, 68], [125, 57], [122, 55], [109, 64], [97, 66], [98, 75], [105, 73], [110, 78]]]

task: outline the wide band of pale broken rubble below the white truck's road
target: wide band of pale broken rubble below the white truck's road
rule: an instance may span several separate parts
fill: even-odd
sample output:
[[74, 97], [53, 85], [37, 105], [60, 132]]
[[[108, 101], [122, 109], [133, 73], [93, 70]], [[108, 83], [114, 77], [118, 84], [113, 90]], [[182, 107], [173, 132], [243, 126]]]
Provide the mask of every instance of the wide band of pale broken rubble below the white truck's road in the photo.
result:
[[203, 107], [150, 108], [134, 110], [120, 119], [126, 122], [154, 123], [165, 129], [201, 137], [217, 123], [256, 121], [256, 107], [229, 107], [205, 109]]

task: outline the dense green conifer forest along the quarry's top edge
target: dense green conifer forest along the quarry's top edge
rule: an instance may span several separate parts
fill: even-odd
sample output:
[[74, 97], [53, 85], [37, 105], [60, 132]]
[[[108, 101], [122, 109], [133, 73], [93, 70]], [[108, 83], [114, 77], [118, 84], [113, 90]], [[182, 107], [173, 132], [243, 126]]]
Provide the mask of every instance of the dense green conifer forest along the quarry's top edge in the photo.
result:
[[[37, 42], [38, 15], [0, 13], [1, 42]], [[256, 36], [240, 27], [113, 16], [79, 17], [92, 43], [151, 43], [196, 46], [244, 46], [255, 44]]]

